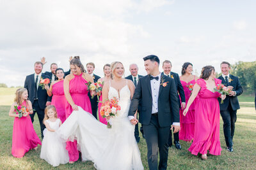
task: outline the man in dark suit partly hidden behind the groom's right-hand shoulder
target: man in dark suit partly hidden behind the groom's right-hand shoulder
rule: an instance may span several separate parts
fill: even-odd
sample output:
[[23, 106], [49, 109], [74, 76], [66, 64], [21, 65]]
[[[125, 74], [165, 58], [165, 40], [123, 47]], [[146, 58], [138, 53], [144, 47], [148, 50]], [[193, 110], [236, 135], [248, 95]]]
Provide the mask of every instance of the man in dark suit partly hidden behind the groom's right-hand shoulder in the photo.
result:
[[[176, 92], [177, 92], [177, 97], [178, 97], [178, 103], [179, 103], [179, 108], [184, 110], [184, 108], [186, 107], [186, 98], [185, 98], [185, 94], [184, 94], [184, 89], [180, 83], [180, 78], [179, 78], [179, 74], [177, 73], [173, 73], [172, 71], [172, 62], [170, 62], [170, 60], [164, 60], [163, 62], [163, 73], [164, 75], [172, 78], [175, 82], [175, 87], [176, 87]], [[179, 92], [179, 93], [178, 93]], [[180, 96], [180, 97], [179, 97]], [[181, 99], [181, 104], [180, 104], [180, 99]], [[175, 148], [177, 148], [178, 150], [181, 149], [181, 145], [179, 142], [179, 132], [174, 133], [174, 145]], [[172, 131], [170, 131], [170, 135], [169, 135], [169, 139], [168, 139], [168, 145], [172, 146]]]

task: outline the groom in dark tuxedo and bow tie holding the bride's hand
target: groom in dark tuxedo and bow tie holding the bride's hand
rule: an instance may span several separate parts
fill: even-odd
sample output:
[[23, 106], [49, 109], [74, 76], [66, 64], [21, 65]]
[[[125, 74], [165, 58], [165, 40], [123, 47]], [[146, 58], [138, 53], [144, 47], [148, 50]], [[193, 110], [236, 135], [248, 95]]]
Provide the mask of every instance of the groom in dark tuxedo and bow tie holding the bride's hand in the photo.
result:
[[166, 169], [168, 160], [168, 135], [166, 134], [170, 134], [171, 127], [174, 128], [174, 133], [180, 129], [177, 90], [174, 80], [160, 73], [160, 60], [156, 55], [148, 55], [143, 60], [148, 75], [138, 81], [128, 117], [131, 124], [138, 123], [134, 114], [141, 102], [139, 120], [143, 125], [147, 141], [148, 167], [151, 170], [157, 169], [159, 150], [158, 169]]

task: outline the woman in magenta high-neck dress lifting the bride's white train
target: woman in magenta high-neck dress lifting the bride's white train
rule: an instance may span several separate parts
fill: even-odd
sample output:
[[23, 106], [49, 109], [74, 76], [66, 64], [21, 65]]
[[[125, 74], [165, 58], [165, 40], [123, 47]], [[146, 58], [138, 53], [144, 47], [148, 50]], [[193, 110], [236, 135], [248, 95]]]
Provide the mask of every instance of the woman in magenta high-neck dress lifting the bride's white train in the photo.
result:
[[[88, 88], [86, 83], [88, 81], [93, 83], [93, 78], [90, 74], [85, 73], [83, 64], [78, 56], [70, 60], [70, 71], [64, 80], [64, 92], [67, 99], [65, 106], [66, 118], [73, 110], [78, 110], [78, 106], [84, 111], [92, 113], [92, 106], [88, 97]], [[79, 152], [77, 150], [77, 142], [67, 141], [66, 149], [68, 150], [69, 163], [73, 164], [79, 159]]]

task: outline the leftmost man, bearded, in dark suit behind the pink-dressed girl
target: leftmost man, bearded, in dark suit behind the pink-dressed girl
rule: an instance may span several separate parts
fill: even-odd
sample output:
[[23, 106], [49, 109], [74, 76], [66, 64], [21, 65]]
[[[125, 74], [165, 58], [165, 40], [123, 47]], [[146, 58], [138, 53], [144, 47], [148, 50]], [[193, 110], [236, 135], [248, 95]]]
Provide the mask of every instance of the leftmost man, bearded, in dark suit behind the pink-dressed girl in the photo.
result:
[[44, 138], [43, 131], [45, 129], [45, 125], [43, 124], [44, 120], [44, 109], [45, 106], [51, 105], [51, 97], [47, 95], [47, 91], [42, 89], [39, 86], [40, 78], [50, 78], [46, 74], [42, 73], [43, 63], [38, 61], [35, 62], [34, 65], [35, 73], [26, 76], [24, 88], [28, 89], [28, 98], [32, 103], [33, 114], [30, 115], [32, 123], [34, 122], [35, 113], [37, 113], [40, 127], [41, 127], [41, 135]]

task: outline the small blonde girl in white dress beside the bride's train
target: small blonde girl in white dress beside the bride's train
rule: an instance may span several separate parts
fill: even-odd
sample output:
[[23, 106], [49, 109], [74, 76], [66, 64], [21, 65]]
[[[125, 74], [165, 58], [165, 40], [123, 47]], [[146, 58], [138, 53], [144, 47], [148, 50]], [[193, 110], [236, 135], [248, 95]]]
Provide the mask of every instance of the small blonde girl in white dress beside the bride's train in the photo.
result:
[[44, 139], [40, 158], [46, 160], [52, 166], [67, 164], [69, 157], [65, 149], [66, 143], [56, 135], [56, 130], [61, 125], [60, 118], [57, 118], [56, 108], [53, 105], [45, 108], [44, 116]]

